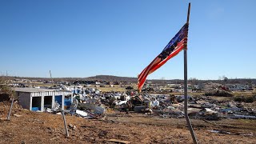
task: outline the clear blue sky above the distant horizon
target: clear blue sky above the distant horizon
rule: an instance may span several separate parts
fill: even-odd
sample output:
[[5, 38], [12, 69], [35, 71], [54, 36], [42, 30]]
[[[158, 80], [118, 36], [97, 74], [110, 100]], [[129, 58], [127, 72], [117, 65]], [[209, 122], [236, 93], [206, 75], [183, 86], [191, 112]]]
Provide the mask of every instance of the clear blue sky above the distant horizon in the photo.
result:
[[[188, 78], [256, 78], [256, 1], [0, 0], [0, 74], [137, 77], [186, 22]], [[149, 79], [183, 78], [183, 51]]]

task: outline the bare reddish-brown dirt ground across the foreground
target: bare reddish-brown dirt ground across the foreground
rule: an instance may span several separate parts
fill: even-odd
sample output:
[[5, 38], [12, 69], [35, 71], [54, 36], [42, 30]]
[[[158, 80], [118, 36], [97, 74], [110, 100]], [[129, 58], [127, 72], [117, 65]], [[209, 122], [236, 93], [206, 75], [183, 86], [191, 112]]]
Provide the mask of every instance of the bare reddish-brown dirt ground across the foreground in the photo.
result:
[[[159, 118], [143, 114], [112, 113], [105, 120], [66, 115], [70, 136], [66, 138], [62, 115], [24, 110], [10, 102], [0, 102], [0, 143], [192, 143], [185, 118]], [[256, 143], [256, 121], [192, 119], [199, 143]], [[221, 130], [222, 134], [209, 130]]]

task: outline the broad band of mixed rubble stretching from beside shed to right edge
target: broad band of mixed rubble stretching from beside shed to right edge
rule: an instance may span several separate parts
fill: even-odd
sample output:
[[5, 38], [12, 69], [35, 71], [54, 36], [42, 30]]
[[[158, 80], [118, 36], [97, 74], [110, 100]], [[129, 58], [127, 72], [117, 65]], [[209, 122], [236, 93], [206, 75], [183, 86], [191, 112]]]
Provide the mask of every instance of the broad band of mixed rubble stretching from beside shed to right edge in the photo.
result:
[[[162, 118], [184, 118], [184, 95], [134, 94], [106, 92], [94, 88], [76, 90], [74, 112], [83, 118], [102, 118], [106, 109], [134, 111], [135, 113], [154, 114]], [[222, 92], [218, 92], [222, 94]], [[223, 93], [226, 94], [226, 93]], [[57, 106], [58, 107], [58, 106]], [[221, 118], [254, 119], [256, 110], [248, 109], [242, 102], [219, 102], [207, 96], [188, 96], [190, 118], [220, 120]], [[70, 110], [72, 113], [72, 110]], [[74, 114], [73, 114], [74, 115]]]

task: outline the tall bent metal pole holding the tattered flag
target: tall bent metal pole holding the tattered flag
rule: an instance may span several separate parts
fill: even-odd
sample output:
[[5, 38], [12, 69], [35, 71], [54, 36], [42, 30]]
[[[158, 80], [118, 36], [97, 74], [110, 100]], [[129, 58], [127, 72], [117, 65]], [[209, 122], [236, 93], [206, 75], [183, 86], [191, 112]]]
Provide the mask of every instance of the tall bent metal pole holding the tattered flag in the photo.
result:
[[[186, 23], [189, 24], [190, 22], [190, 3], [189, 3], [189, 8], [187, 10], [187, 19], [186, 19]], [[184, 49], [184, 97], [185, 97], [185, 101], [184, 101], [184, 113], [185, 113], [185, 118], [186, 118], [186, 123], [189, 127], [190, 130], [190, 134], [193, 138], [194, 143], [198, 143], [197, 142], [197, 138], [194, 134], [194, 130], [193, 127], [191, 126], [190, 123], [190, 118], [187, 114], [187, 58], [186, 58], [186, 49], [187, 47]]]

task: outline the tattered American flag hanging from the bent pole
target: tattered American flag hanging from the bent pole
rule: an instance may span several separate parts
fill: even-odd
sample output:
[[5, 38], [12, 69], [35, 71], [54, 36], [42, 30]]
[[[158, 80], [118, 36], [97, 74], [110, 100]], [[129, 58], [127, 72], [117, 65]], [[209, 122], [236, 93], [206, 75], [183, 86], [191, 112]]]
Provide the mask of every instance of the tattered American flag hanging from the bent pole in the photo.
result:
[[186, 49], [188, 28], [188, 23], [182, 26], [182, 29], [170, 40], [167, 46], [162, 50], [162, 53], [158, 54], [150, 65], [142, 70], [142, 73], [138, 75], [138, 90], [142, 90], [142, 86], [149, 74], [153, 73], [154, 70], [158, 70], [159, 67], [165, 64], [170, 58], [177, 55], [182, 49]]

